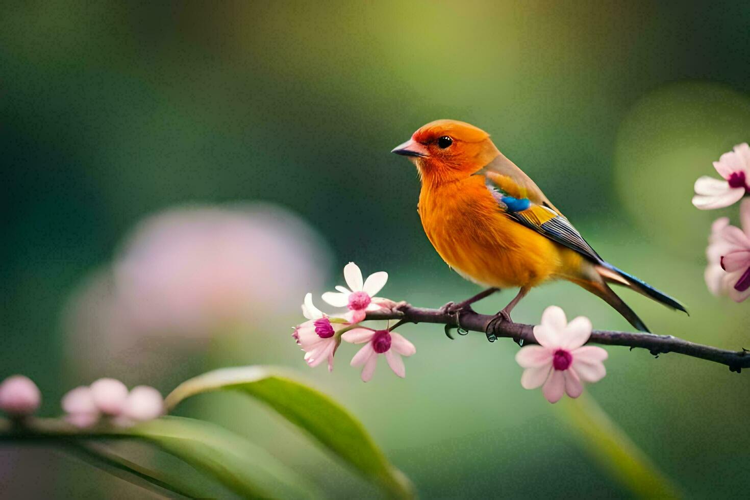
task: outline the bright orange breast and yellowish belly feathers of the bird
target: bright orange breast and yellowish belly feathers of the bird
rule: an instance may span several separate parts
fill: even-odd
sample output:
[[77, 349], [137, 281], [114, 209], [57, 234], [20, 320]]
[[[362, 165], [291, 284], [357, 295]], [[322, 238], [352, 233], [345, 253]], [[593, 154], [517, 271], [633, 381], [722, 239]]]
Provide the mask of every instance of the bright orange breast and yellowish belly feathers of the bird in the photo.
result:
[[419, 217], [443, 260], [481, 285], [536, 286], [569, 264], [570, 251], [502, 212], [482, 175], [423, 183]]

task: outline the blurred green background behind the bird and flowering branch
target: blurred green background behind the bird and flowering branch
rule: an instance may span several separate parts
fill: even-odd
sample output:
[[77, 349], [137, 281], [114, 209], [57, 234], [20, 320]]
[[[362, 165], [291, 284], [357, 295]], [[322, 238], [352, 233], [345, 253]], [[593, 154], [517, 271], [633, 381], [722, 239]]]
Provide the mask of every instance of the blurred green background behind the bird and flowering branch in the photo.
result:
[[[653, 331], [750, 348], [747, 304], [714, 298], [703, 283], [709, 225], [719, 215], [736, 220], [736, 207], [706, 213], [690, 203], [695, 178], [714, 175], [711, 161], [750, 139], [747, 4], [1, 7], [0, 375], [34, 379], [46, 414], [59, 411], [69, 388], [99, 376], [166, 393], [211, 367], [283, 364], [362, 418], [424, 498], [630, 496], [586, 454], [559, 406], [520, 388], [511, 342], [449, 341], [438, 326], [406, 326], [401, 333], [418, 351], [407, 379], [381, 362], [367, 385], [348, 366], [350, 347], [329, 374], [309, 370], [291, 342], [304, 292], [322, 305], [320, 293], [343, 283], [350, 260], [365, 274], [389, 271], [383, 295], [395, 300], [437, 307], [476, 291], [425, 238], [416, 172], [389, 153], [437, 118], [490, 132], [598, 253], [688, 305], [689, 317], [623, 292]], [[290, 244], [311, 262], [292, 285], [284, 262], [267, 263], [294, 292], [278, 297], [273, 314], [259, 307], [187, 347], [178, 334], [151, 332], [140, 350], [119, 349], [113, 337], [128, 332], [101, 318], [88, 330], [69, 320], [86, 283], [145, 217], [175, 205], [258, 201], [277, 205], [260, 205], [269, 213], [296, 213], [311, 233]], [[513, 294], [478, 310], [499, 310]], [[628, 329], [569, 283], [535, 290], [514, 319], [537, 322], [549, 304], [596, 328]], [[151, 346], [169, 356], [149, 357]], [[745, 374], [608, 350], [609, 374], [589, 390], [613, 420], [687, 496], [743, 493]], [[248, 434], [332, 496], [376, 494], [241, 398], [206, 396], [184, 412]], [[136, 494], [53, 451], [0, 454], [0, 492], [9, 498]]]

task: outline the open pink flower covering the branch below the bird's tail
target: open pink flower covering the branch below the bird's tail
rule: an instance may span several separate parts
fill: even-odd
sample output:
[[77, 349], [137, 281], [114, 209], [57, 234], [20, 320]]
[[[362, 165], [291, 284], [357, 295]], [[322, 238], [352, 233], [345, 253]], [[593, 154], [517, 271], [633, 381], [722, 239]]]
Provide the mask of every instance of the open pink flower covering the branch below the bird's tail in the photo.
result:
[[550, 306], [541, 315], [541, 325], [534, 327], [538, 346], [525, 346], [516, 354], [523, 375], [520, 385], [535, 389], [540, 385], [544, 397], [557, 403], [563, 393], [579, 397], [583, 382], [598, 382], [607, 374], [601, 361], [607, 351], [601, 347], [583, 346], [591, 336], [591, 322], [578, 316], [570, 323], [557, 306]]

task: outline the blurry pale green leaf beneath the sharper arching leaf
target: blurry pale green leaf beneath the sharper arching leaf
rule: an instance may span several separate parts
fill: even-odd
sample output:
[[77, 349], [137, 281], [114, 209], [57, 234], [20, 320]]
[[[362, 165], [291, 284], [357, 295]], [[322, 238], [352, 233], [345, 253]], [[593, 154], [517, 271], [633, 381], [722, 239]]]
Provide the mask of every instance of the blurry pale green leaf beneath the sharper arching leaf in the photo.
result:
[[246, 498], [308, 499], [320, 496], [263, 448], [223, 427], [193, 418], [164, 417], [125, 431], [208, 472]]

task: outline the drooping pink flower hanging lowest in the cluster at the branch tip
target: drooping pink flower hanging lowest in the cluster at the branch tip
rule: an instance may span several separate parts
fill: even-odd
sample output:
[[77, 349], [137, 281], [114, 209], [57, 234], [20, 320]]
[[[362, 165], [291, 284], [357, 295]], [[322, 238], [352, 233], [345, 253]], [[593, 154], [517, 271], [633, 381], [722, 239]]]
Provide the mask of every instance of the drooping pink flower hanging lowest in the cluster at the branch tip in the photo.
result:
[[359, 352], [354, 355], [351, 362], [353, 367], [358, 367], [361, 364], [365, 365], [362, 367], [362, 380], [365, 382], [372, 379], [373, 373], [375, 373], [378, 355], [385, 355], [386, 361], [388, 361], [388, 365], [393, 370], [393, 373], [403, 379], [407, 376], [407, 372], [401, 356], [411, 356], [417, 352], [413, 343], [410, 343], [409, 340], [406, 340], [395, 331], [376, 331], [372, 328], [364, 327], [354, 328], [341, 334], [341, 338], [354, 344], [366, 342], [365, 346], [359, 349]]

